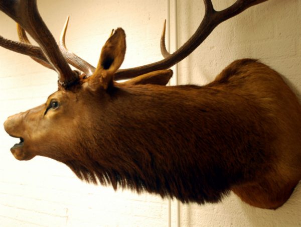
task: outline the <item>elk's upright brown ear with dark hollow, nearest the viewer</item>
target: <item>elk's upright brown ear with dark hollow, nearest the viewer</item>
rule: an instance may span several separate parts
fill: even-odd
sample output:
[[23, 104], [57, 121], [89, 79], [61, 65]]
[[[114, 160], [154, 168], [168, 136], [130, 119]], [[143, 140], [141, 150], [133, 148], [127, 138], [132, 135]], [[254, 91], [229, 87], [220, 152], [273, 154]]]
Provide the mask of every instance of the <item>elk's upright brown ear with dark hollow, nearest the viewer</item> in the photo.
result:
[[90, 77], [90, 86], [106, 90], [113, 85], [114, 73], [123, 62], [125, 49], [125, 33], [117, 28], [102, 47], [96, 70]]

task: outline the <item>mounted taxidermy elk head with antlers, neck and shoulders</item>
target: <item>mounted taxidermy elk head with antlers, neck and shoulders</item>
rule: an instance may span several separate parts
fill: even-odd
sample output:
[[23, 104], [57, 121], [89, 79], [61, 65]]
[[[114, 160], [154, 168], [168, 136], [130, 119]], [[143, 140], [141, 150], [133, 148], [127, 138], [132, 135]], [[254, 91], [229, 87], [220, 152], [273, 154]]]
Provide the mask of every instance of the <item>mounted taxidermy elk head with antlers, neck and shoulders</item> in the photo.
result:
[[[301, 106], [280, 75], [252, 59], [234, 61], [205, 85], [163, 86], [221, 22], [265, 0], [237, 0], [215, 11], [204, 0], [196, 33], [164, 59], [122, 69], [125, 34], [112, 32], [96, 68], [57, 45], [35, 0], [0, 1], [18, 23], [20, 42], [0, 45], [31, 56], [59, 75], [46, 103], [9, 117], [19, 160], [36, 155], [65, 163], [83, 180], [217, 202], [230, 190], [262, 208], [281, 206], [301, 179]], [[39, 44], [30, 44], [26, 33]], [[165, 30], [164, 30], [165, 31]], [[78, 70], [72, 70], [69, 64]], [[134, 78], [135, 77], [135, 78]], [[132, 78], [127, 82], [114, 80]]]

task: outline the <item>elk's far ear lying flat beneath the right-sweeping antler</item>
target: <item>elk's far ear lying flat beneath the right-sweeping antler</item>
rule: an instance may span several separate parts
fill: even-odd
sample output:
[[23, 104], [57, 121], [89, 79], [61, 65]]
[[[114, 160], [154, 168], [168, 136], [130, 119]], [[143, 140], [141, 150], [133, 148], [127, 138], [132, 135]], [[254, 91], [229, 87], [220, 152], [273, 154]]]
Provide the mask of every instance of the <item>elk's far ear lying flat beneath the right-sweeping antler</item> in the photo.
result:
[[149, 72], [149, 73], [134, 77], [130, 80], [122, 82], [121, 84], [166, 85], [172, 76], [173, 76], [173, 70], [171, 70], [171, 69], [157, 70], [154, 72]]

